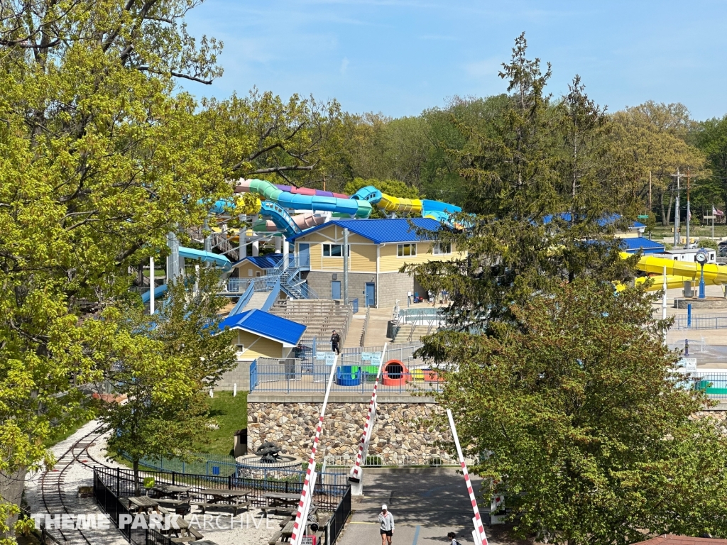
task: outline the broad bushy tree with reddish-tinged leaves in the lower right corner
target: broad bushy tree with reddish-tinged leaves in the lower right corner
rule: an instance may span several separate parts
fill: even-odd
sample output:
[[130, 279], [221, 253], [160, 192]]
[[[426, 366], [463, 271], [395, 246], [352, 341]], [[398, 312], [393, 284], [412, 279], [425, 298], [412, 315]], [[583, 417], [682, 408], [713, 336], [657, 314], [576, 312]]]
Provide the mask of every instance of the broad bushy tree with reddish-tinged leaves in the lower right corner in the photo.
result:
[[[654, 296], [575, 280], [513, 305], [507, 335], [452, 333], [439, 401], [519, 536], [628, 544], [727, 535], [727, 440], [672, 371]], [[455, 371], [456, 369], [456, 371]]]

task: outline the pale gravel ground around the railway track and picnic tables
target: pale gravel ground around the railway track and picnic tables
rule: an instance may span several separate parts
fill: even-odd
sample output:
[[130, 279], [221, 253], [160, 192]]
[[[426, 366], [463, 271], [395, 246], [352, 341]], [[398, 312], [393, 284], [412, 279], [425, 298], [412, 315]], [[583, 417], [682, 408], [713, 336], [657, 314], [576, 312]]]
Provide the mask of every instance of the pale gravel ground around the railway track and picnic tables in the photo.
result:
[[[78, 432], [68, 439], [57, 443], [50, 450], [60, 459], [69, 448], [81, 437], [88, 435], [96, 427], [98, 421], [92, 421], [81, 427]], [[103, 464], [106, 467], [124, 467], [116, 461], [107, 459], [106, 440], [111, 432], [95, 440], [95, 444], [89, 446], [88, 455], [80, 456], [79, 459], [87, 461], [90, 466]], [[25, 500], [28, 502], [32, 513], [44, 513], [44, 505], [41, 498], [41, 475], [42, 472], [28, 474], [25, 479]], [[99, 513], [94, 498], [79, 498], [77, 491], [79, 486], [93, 485], [92, 467], [76, 462], [63, 474], [64, 502], [72, 513]], [[47, 487], [48, 488], [48, 487]], [[219, 516], [218, 516], [219, 514]], [[185, 517], [192, 522], [204, 535], [205, 540], [214, 541], [218, 545], [264, 545], [270, 538], [280, 530], [279, 522], [281, 517], [270, 515], [269, 519], [262, 517], [262, 511], [252, 508], [250, 512], [243, 512], [237, 517], [231, 517], [227, 509], [224, 511], [207, 512], [206, 516], [199, 512], [197, 507]], [[119, 530], [95, 530], [92, 533], [93, 545], [124, 545], [126, 539], [121, 536]], [[84, 542], [79, 536], [79, 543]], [[75, 541], [75, 540], [74, 540]], [[84, 542], [85, 543], [85, 542]]]

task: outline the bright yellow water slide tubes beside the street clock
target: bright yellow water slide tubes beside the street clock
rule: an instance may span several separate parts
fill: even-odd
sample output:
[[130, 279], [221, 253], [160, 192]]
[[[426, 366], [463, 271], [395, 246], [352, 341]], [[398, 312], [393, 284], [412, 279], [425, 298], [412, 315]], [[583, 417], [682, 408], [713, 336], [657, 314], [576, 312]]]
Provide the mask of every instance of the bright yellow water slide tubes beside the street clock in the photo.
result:
[[[621, 257], [627, 259], [631, 255], [622, 252]], [[654, 291], [664, 287], [664, 273], [667, 275], [667, 288], [681, 288], [687, 280], [699, 281], [702, 272], [698, 263], [653, 256], [642, 256], [638, 260], [636, 268], [644, 273], [655, 275], [651, 277], [654, 283], [650, 288]], [[636, 283], [644, 283], [646, 280], [648, 278], [637, 278]], [[716, 286], [727, 283], [727, 267], [720, 267], [714, 263], [704, 265], [704, 283]], [[616, 288], [620, 291], [624, 289], [624, 286], [618, 285]]]

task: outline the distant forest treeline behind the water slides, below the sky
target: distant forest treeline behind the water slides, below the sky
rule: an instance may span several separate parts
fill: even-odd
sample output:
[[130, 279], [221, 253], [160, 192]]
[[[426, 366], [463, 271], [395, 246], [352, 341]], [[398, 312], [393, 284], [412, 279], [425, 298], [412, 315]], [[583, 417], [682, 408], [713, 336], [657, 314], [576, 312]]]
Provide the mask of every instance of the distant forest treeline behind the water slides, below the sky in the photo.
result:
[[[479, 135], [497, 134], [512, 100], [507, 94], [454, 97], [441, 108], [401, 118], [348, 113], [335, 101], [320, 104], [313, 98], [292, 97], [284, 103], [257, 91], [212, 106], [244, 104], [252, 116], [246, 121], [260, 120], [256, 128], [260, 145], [254, 153], [265, 151], [254, 157], [251, 154], [246, 176], [265, 175], [281, 183], [334, 191], [345, 190], [354, 179], [389, 186], [395, 181], [411, 188], [404, 196], [413, 191], [464, 205], [468, 195], [468, 182], [462, 176], [466, 157], [477, 148]], [[568, 115], [565, 100], [547, 98], [553, 131], [562, 132], [552, 144], [561, 148], [554, 151], [564, 160], [573, 153], [562, 119]], [[270, 116], [268, 108], [273, 104], [277, 111]], [[638, 198], [642, 213], [649, 214], [652, 221], [673, 222], [678, 172], [683, 175], [683, 195], [691, 185], [691, 207], [697, 221], [711, 213], [712, 204], [718, 209], [727, 206], [727, 115], [696, 121], [683, 104], [653, 101], [605, 114], [598, 129], [601, 145], [593, 161]], [[361, 184], [350, 187], [357, 185]], [[686, 198], [681, 203], [682, 214], [686, 214]]]

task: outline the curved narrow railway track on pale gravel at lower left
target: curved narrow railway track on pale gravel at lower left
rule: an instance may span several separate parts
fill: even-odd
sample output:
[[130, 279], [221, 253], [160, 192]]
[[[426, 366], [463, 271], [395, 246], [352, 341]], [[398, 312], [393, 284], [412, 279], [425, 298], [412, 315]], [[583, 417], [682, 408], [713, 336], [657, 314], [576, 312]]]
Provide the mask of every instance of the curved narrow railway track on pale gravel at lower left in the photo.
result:
[[[68, 477], [68, 470], [76, 466], [76, 464], [81, 464], [81, 466], [89, 470], [92, 470], [94, 465], [106, 465], [93, 458], [88, 452], [89, 446], [93, 445], [104, 433], [103, 427], [97, 427], [89, 434], [84, 435], [60, 456], [53, 469], [41, 475], [41, 501], [47, 513], [62, 515], [87, 512], [88, 506], [81, 505], [75, 494], [68, 496], [67, 491], [64, 489], [65, 479]], [[106, 541], [103, 539], [104, 537], [108, 539], [108, 534], [103, 533], [103, 530], [94, 529], [47, 528], [46, 533], [58, 543], [98, 545], [99, 542]], [[95, 544], [92, 542], [93, 540], [96, 541]]]

